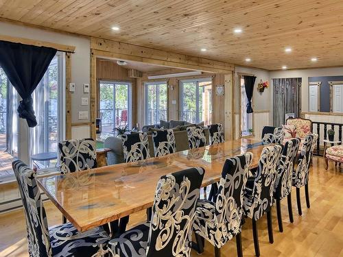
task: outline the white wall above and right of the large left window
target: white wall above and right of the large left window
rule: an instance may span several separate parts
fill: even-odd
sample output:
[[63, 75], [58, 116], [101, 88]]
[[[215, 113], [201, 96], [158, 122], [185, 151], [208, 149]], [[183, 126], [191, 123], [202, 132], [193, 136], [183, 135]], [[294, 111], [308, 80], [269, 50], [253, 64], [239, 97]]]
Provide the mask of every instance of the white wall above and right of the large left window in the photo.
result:
[[89, 121], [89, 119], [82, 121], [78, 119], [78, 112], [80, 110], [89, 112], [89, 106], [81, 106], [81, 97], [89, 97], [89, 94], [83, 93], [83, 84], [90, 83], [91, 59], [89, 38], [59, 34], [43, 29], [3, 22], [0, 22], [0, 34], [75, 46], [75, 54], [71, 56], [71, 81], [76, 85], [75, 92], [71, 96], [71, 121], [73, 123]]

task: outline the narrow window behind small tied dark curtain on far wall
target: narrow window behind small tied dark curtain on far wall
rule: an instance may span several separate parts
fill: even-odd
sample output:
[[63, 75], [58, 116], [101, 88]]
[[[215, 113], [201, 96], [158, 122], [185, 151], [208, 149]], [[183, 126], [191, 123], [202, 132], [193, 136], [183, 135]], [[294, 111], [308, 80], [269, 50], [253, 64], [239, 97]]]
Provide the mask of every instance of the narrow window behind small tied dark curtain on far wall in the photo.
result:
[[[239, 76], [239, 100], [240, 100], [240, 129], [241, 136], [252, 136], [252, 113], [246, 113], [246, 104], [248, 97], [246, 97], [246, 88], [244, 86], [243, 76]], [[251, 99], [252, 101], [252, 99]]]

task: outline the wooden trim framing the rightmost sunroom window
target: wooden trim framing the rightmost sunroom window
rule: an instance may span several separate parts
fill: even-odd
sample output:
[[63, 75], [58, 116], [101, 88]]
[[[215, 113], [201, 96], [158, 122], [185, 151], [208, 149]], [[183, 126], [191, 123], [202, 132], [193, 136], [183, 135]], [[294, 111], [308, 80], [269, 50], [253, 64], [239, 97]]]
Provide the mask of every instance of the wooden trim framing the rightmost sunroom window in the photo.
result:
[[[211, 122], [213, 121], [213, 77], [199, 77], [199, 78], [193, 78], [193, 79], [180, 79], [179, 81], [179, 119], [180, 121], [181, 120], [185, 120], [183, 117], [182, 117], [182, 112], [183, 112], [183, 83], [189, 83], [189, 82], [196, 82], [196, 123], [200, 123], [202, 121], [200, 121], [199, 119], [199, 82], [209, 82], [211, 81], [211, 90], [212, 90], [212, 93], [211, 93], [211, 110], [212, 110], [212, 113], [211, 113]], [[188, 121], [187, 121], [188, 122]]]

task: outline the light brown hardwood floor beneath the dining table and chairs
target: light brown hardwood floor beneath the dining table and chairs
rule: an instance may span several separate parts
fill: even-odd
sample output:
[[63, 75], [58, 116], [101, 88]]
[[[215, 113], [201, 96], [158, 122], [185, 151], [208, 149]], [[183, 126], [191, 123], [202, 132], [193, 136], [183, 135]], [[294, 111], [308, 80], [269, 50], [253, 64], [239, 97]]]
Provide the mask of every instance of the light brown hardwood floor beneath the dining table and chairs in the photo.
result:
[[[343, 167], [329, 164], [324, 170], [324, 159], [314, 157], [310, 171], [309, 193], [311, 208], [306, 208], [305, 189], [301, 189], [303, 216], [296, 209], [295, 189], [292, 191], [294, 223], [289, 223], [287, 199], [281, 201], [283, 230], [279, 232], [276, 208], [273, 207], [274, 244], [268, 242], [267, 219], [258, 221], [261, 256], [343, 256]], [[49, 225], [60, 223], [61, 215], [51, 202], [45, 202]], [[145, 212], [130, 217], [130, 226], [145, 219]], [[247, 220], [242, 231], [244, 256], [255, 256], [252, 241], [252, 223]], [[197, 256], [192, 252], [192, 256]], [[0, 215], [0, 256], [28, 256], [23, 210]], [[212, 245], [205, 243], [202, 256], [214, 256]], [[222, 248], [222, 256], [237, 256], [235, 239]]]

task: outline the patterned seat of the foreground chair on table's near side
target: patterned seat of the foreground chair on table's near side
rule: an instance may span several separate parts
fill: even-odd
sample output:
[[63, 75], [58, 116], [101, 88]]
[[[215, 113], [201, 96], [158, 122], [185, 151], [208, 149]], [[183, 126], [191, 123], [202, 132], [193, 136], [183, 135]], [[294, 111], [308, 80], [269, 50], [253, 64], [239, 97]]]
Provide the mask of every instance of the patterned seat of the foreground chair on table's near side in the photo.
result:
[[147, 240], [149, 237], [150, 223], [137, 225], [113, 238], [108, 247], [117, 257], [146, 256]]

